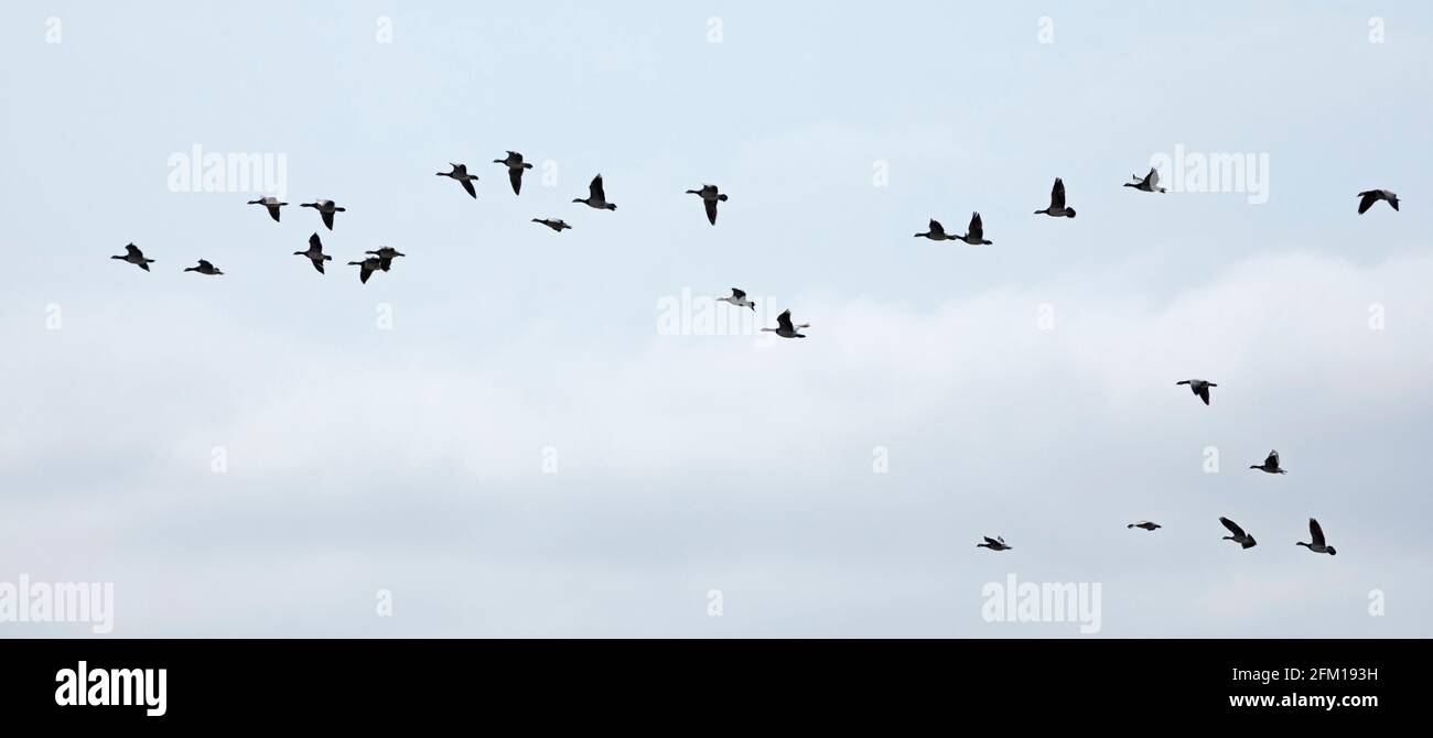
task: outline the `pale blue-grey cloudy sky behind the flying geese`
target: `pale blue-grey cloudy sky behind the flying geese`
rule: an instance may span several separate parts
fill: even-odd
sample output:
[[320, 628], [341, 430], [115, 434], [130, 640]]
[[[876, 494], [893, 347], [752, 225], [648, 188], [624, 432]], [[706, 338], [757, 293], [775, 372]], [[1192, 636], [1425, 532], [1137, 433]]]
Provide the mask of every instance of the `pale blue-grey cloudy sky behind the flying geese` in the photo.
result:
[[0, 582], [115, 636], [1078, 635], [986, 622], [1012, 573], [1103, 636], [1433, 635], [1433, 6], [960, 6], [7, 4]]

